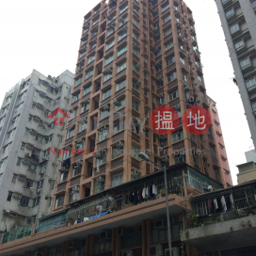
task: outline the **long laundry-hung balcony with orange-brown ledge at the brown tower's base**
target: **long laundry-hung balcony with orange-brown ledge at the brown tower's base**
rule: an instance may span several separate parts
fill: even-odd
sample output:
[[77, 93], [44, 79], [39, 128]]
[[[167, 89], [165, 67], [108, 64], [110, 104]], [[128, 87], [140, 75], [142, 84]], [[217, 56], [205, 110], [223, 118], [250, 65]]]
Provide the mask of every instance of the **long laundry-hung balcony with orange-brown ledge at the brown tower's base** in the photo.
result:
[[[136, 160], [136, 159], [135, 159]], [[138, 161], [139, 163], [139, 161]], [[184, 172], [184, 175], [183, 175]], [[168, 205], [172, 214], [179, 214], [184, 209], [191, 211], [190, 204], [184, 205], [185, 191], [199, 195], [200, 193], [207, 192], [207, 185], [212, 185], [215, 189], [219, 189], [221, 184], [204, 176], [202, 173], [186, 164], [178, 164], [168, 168]], [[186, 189], [184, 189], [184, 181]], [[119, 203], [120, 193], [123, 191], [133, 191], [134, 187], [144, 187], [144, 184], [155, 184], [157, 187], [158, 195], [150, 197], [143, 203], [131, 203], [130, 201], [123, 201]], [[30, 236], [30, 232], [24, 235], [20, 230], [13, 230], [11, 233], [23, 233], [21, 236], [11, 235], [11, 239], [4, 240], [5, 243], [13, 240], [21, 239], [25, 236], [25, 240], [15, 242], [15, 247], [19, 247], [19, 253], [25, 250], [34, 250], [39, 247], [44, 247], [49, 242], [54, 242], [59, 239], [64, 240], [65, 237], [86, 237], [93, 232], [103, 231], [105, 229], [113, 229], [120, 226], [120, 221], [133, 225], [147, 218], [154, 218], [154, 216], [165, 215], [166, 213], [166, 200], [160, 195], [160, 190], [163, 190], [164, 173], [159, 170], [157, 172], [148, 174], [136, 181], [120, 184], [112, 188], [105, 189], [103, 192], [89, 196], [83, 200], [76, 200], [69, 203], [67, 210], [56, 212], [49, 216], [43, 216], [39, 219], [35, 227], [35, 232]], [[201, 192], [200, 192], [201, 191]], [[123, 195], [124, 195], [123, 194]], [[111, 197], [111, 199], [109, 199]], [[115, 201], [113, 205], [111, 201]], [[97, 216], [95, 206], [101, 203], [104, 207], [104, 216]], [[84, 222], [84, 217], [88, 217], [88, 221]], [[95, 219], [96, 218], [96, 219]], [[119, 221], [117, 221], [119, 219]], [[79, 223], [74, 225], [74, 223]], [[31, 226], [27, 228], [31, 231]], [[9, 237], [9, 232], [5, 234]], [[37, 241], [35, 244], [34, 241]], [[55, 242], [54, 242], [55, 243]], [[9, 250], [14, 249], [11, 244], [0, 247], [1, 255], [9, 255]]]

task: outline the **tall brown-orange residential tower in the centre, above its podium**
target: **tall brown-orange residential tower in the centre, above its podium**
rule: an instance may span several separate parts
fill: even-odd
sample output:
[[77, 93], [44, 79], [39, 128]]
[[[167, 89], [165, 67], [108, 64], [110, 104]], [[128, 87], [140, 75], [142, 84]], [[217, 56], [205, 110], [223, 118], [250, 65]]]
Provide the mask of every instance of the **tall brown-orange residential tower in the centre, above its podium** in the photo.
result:
[[[59, 168], [53, 212], [154, 172], [138, 151], [150, 152], [159, 165], [187, 163], [227, 185], [217, 142], [207, 133], [190, 135], [182, 125], [190, 106], [210, 111], [194, 24], [179, 1], [101, 2], [85, 15], [70, 106], [74, 118], [63, 147], [63, 160], [71, 164]], [[160, 105], [175, 107], [180, 116], [179, 128], [168, 136], [150, 124]], [[201, 147], [204, 155], [188, 152]], [[85, 152], [71, 155], [72, 149]]]

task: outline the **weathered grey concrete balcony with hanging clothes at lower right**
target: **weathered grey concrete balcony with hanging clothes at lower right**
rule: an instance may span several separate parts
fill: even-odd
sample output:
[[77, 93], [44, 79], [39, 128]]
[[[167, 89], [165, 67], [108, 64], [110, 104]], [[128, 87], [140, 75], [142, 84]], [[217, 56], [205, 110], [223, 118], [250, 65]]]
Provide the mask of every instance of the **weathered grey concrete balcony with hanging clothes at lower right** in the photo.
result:
[[[190, 201], [194, 214], [197, 215], [195, 217], [198, 224], [195, 221], [189, 223], [190, 228], [183, 232], [182, 241], [199, 248], [201, 252], [233, 248], [233, 245], [254, 244], [256, 200], [253, 191], [255, 187], [254, 181], [192, 197]], [[221, 198], [225, 200], [225, 209], [221, 204]], [[219, 206], [217, 209], [212, 204], [212, 199], [216, 199], [216, 205]], [[213, 207], [208, 208], [206, 205], [209, 203]]]

